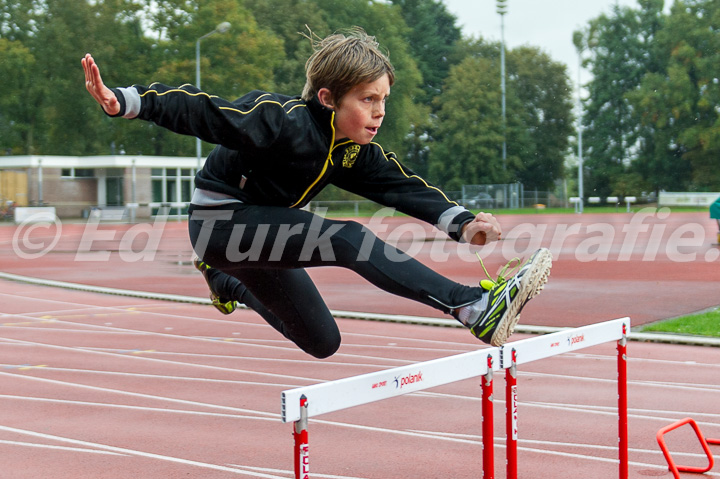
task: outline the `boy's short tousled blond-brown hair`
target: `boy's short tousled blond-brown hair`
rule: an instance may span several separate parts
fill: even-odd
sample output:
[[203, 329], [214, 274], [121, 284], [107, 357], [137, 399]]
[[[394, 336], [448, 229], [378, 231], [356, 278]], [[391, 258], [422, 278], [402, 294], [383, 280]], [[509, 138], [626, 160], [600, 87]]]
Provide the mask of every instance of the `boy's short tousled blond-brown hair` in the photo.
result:
[[380, 51], [375, 37], [354, 27], [319, 39], [305, 35], [313, 43], [314, 53], [305, 63], [306, 82], [302, 98], [309, 101], [321, 88], [327, 88], [333, 101], [340, 104], [355, 85], [370, 83], [387, 74], [395, 82], [395, 69], [387, 55]]

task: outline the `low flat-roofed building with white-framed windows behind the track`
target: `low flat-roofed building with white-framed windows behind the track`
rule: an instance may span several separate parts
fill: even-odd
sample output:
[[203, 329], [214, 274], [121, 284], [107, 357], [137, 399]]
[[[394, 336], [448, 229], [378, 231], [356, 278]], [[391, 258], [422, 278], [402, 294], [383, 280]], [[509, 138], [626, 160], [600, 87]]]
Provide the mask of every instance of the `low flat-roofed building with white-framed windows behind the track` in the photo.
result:
[[17, 206], [53, 206], [60, 218], [93, 209], [131, 209], [150, 217], [160, 208], [185, 214], [193, 191], [195, 157], [3, 156], [0, 199]]

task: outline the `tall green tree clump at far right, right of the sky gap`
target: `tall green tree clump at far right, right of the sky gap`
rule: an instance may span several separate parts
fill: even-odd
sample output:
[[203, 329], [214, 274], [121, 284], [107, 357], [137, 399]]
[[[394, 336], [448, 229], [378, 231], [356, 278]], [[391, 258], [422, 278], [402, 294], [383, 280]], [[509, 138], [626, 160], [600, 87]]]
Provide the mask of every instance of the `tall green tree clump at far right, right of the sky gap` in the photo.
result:
[[638, 0], [575, 32], [595, 196], [720, 190], [720, 1]]

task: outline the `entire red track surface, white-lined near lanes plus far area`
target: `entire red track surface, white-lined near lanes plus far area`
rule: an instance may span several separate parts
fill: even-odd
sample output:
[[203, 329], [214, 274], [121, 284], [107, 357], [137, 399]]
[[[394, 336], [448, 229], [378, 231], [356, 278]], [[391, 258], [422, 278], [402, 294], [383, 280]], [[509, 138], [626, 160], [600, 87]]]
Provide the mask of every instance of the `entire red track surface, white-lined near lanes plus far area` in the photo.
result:
[[[510, 257], [526, 256], [537, 237], [553, 250], [550, 283], [525, 308], [524, 324], [576, 326], [630, 316], [637, 325], [717, 305], [720, 265], [706, 216], [649, 216], [647, 231], [632, 245], [629, 233], [622, 234], [629, 217], [505, 217], [505, 231], [515, 234], [483, 256], [494, 272]], [[384, 223], [399, 225], [396, 221]], [[663, 224], [667, 229], [660, 234]], [[693, 224], [705, 233], [697, 246], [689, 243], [700, 229], [683, 226]], [[537, 229], [542, 225], [544, 234]], [[88, 238], [85, 228], [62, 225], [52, 251], [31, 259], [30, 250], [18, 253], [18, 241], [13, 245], [14, 236], [22, 237], [18, 230], [0, 227], [0, 270], [206, 294], [189, 265], [184, 224], [164, 225], [158, 247], [147, 250], [152, 253], [147, 262], [128, 261], [144, 248], [139, 236], [123, 243], [129, 225], [100, 225], [105, 239], [90, 247], [81, 241], [84, 232]], [[536, 228], [536, 234], [525, 235], [523, 228]], [[579, 228], [580, 234], [557, 240], [562, 228]], [[678, 237], [685, 244], [667, 246], [683, 228], [688, 233]], [[112, 239], [108, 232], [114, 232]], [[37, 229], [34, 241], [42, 236], [37, 233], [54, 237], [52, 229]], [[440, 246], [450, 257], [456, 247], [439, 241], [417, 247], [393, 227], [381, 236], [400, 237], [401, 246], [417, 249], [419, 259], [459, 281], [478, 279], [469, 250], [460, 250], [464, 259], [439, 261]], [[593, 244], [589, 238], [596, 238]], [[107, 251], [109, 259], [79, 261], [78, 250]], [[651, 258], [653, 251], [658, 253]], [[591, 258], [605, 253], [607, 260]], [[694, 261], [684, 261], [693, 255]], [[375, 291], [351, 272], [312, 274], [334, 309], [440, 316]], [[10, 281], [0, 281], [0, 287], [3, 479], [290, 478], [292, 426], [279, 419], [281, 391], [482, 347], [462, 329], [340, 319], [343, 346], [331, 359], [318, 361], [250, 311], [222, 316], [204, 305]], [[629, 354], [630, 477], [669, 478], [655, 442], [658, 429], [689, 416], [707, 436], [720, 437], [720, 348], [632, 342]], [[607, 344], [522, 367], [520, 477], [617, 476], [615, 362], [614, 344]], [[496, 378], [496, 477], [504, 477], [503, 383]], [[479, 382], [470, 380], [313, 419], [311, 477], [478, 477], [479, 398]], [[687, 431], [672, 433], [668, 441], [678, 462], [706, 463]], [[717, 455], [718, 447], [713, 450]], [[718, 466], [709, 475], [720, 477]]]

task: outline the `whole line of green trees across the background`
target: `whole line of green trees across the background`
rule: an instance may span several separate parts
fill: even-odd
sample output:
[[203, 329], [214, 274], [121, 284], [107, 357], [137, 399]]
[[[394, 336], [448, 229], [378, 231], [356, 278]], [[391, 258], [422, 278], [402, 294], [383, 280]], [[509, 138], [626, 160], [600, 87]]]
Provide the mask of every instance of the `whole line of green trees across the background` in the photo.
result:
[[[662, 0], [639, 0], [576, 32], [593, 74], [582, 115], [586, 192], [720, 186], [718, 7], [678, 1], [665, 15]], [[566, 66], [537, 47], [509, 49], [503, 123], [500, 43], [464, 36], [441, 0], [0, 0], [0, 151], [194, 156], [193, 138], [103, 115], [79, 61], [92, 53], [110, 86], [195, 83], [196, 42], [222, 22], [231, 28], [200, 43], [209, 93], [299, 95], [306, 36], [360, 26], [396, 68], [377, 141], [416, 173], [448, 190], [514, 181], [549, 190], [576, 175]]]

